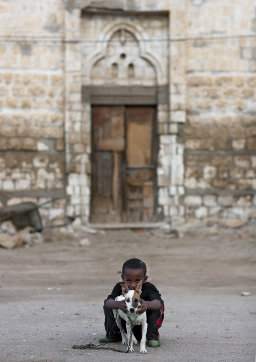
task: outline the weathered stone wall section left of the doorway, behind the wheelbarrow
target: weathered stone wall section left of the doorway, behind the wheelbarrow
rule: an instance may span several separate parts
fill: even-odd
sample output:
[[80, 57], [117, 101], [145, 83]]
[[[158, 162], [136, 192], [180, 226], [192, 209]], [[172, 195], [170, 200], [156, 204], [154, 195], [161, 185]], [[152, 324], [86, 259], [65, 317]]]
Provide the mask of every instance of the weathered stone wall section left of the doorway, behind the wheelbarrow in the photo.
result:
[[0, 204], [43, 203], [65, 219], [63, 10], [60, 2], [1, 3]]

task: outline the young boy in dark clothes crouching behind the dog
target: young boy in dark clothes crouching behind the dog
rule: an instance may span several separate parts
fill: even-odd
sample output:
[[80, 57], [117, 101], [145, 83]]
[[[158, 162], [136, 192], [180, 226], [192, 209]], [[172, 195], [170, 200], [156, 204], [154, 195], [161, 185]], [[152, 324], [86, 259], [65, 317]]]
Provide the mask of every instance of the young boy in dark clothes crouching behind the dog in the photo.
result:
[[[141, 306], [137, 312], [139, 314], [146, 312], [147, 314], [147, 340], [149, 347], [159, 347], [159, 333], [158, 328], [161, 327], [164, 319], [164, 302], [161, 299], [161, 294], [157, 288], [147, 282], [147, 267], [140, 259], [129, 259], [122, 266], [122, 283], [127, 285], [130, 290], [135, 290], [139, 281], [142, 280], [142, 293], [140, 298]], [[119, 308], [124, 313], [127, 313], [125, 300], [116, 301], [115, 298], [121, 295], [122, 288], [120, 283], [117, 283], [112, 290], [112, 293], [108, 295], [104, 301], [104, 313], [105, 313], [105, 330], [106, 337], [100, 338], [99, 343], [116, 342], [121, 339], [120, 331], [115, 324], [115, 319], [111, 310], [113, 308]], [[126, 331], [125, 321], [122, 320], [122, 327]], [[141, 340], [141, 325], [135, 326], [133, 329], [134, 335], [138, 340]]]

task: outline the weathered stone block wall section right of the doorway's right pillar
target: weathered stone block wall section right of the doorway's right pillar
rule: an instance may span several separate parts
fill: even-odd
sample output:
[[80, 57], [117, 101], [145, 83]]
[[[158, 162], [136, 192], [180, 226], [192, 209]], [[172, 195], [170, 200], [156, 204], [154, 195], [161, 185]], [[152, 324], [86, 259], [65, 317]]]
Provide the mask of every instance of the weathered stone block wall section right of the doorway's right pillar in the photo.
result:
[[246, 220], [256, 216], [253, 2], [245, 7], [240, 2], [210, 3], [198, 2], [189, 10], [193, 20], [187, 41], [187, 117], [180, 130], [185, 144], [185, 215]]

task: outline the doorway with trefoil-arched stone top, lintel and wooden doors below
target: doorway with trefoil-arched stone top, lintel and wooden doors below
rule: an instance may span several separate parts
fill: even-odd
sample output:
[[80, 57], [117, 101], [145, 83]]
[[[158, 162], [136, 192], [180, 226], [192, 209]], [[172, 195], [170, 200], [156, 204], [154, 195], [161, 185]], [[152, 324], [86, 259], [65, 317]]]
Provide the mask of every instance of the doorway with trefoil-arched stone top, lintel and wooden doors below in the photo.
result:
[[91, 74], [91, 222], [156, 221], [156, 90], [154, 67], [119, 29]]

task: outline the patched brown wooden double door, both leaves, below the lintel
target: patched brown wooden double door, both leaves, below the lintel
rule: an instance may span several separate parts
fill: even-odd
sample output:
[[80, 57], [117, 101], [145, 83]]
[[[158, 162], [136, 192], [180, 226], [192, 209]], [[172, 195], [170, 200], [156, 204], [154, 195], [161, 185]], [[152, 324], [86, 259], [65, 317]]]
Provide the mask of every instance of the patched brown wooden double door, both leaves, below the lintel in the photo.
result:
[[93, 106], [91, 222], [155, 221], [155, 108]]

